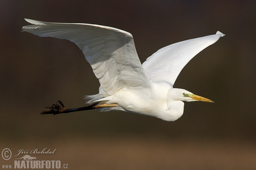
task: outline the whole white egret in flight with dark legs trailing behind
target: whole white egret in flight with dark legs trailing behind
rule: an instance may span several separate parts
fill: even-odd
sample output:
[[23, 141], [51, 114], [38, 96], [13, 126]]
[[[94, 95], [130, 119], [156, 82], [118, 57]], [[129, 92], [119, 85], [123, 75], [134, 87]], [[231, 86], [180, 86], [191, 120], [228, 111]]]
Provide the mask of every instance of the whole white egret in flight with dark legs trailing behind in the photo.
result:
[[99, 94], [87, 96], [90, 106], [67, 109], [58, 101], [61, 106], [52, 105], [48, 107], [50, 111], [42, 114], [99, 109], [175, 121], [183, 115], [182, 101], [213, 102], [184, 89], [173, 88], [173, 85], [190, 59], [224, 36], [220, 31], [168, 45], [141, 64], [134, 39], [126, 31], [93, 24], [25, 20], [34, 25], [23, 26], [23, 31], [74, 42], [83, 51], [100, 83]]

